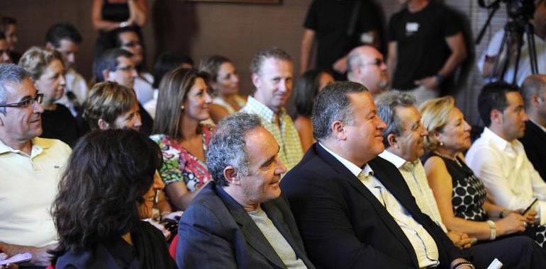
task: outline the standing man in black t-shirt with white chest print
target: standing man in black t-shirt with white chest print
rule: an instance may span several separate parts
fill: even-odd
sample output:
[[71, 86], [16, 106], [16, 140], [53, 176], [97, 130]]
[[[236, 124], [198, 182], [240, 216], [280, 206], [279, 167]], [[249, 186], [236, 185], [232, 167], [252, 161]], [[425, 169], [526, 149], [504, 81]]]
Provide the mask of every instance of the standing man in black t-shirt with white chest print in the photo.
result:
[[[389, 21], [392, 88], [411, 91], [418, 103], [445, 93], [449, 76], [467, 57], [453, 11], [429, 0], [406, 0]], [[443, 82], [443, 83], [442, 83]]]

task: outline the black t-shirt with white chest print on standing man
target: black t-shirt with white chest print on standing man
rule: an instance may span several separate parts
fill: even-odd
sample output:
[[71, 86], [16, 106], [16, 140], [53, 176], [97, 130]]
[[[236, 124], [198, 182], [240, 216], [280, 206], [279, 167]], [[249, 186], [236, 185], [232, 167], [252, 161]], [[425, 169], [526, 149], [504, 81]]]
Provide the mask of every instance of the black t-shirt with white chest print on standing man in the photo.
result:
[[393, 88], [411, 89], [413, 81], [437, 74], [451, 54], [445, 38], [462, 31], [453, 11], [430, 2], [422, 10], [408, 8], [394, 14], [389, 22], [389, 41], [397, 44]]

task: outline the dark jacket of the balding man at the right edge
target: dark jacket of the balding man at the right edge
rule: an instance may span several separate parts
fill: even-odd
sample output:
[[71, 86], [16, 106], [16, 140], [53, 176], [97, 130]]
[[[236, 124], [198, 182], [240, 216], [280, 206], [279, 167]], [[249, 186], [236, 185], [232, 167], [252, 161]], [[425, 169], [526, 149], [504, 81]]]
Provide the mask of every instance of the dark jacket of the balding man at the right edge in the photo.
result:
[[546, 132], [532, 121], [525, 122], [525, 135], [520, 138], [529, 161], [546, 181]]

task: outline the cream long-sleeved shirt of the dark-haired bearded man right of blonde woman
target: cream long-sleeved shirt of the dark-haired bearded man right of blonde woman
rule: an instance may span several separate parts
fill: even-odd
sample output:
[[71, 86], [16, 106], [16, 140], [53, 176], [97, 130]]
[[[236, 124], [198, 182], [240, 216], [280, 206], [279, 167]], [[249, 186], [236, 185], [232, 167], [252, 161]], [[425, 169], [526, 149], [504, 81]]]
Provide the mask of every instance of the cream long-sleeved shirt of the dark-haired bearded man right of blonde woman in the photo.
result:
[[486, 127], [468, 150], [466, 159], [497, 205], [510, 210], [525, 209], [538, 198], [537, 217], [540, 224], [546, 223], [546, 183], [518, 139], [508, 142]]

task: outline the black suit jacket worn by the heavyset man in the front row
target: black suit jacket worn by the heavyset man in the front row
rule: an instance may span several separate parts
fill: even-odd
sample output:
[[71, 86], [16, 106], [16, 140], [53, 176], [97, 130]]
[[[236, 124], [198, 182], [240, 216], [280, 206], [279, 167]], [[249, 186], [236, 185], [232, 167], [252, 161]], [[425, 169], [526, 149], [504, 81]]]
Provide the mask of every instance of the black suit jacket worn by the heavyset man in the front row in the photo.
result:
[[[374, 176], [433, 236], [440, 268], [462, 257], [452, 241], [420, 212], [401, 173], [380, 157]], [[418, 268], [410, 241], [389, 212], [349, 169], [318, 144], [281, 181], [301, 237], [317, 268]]]

